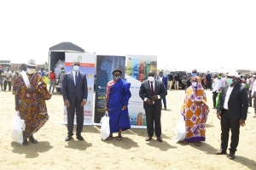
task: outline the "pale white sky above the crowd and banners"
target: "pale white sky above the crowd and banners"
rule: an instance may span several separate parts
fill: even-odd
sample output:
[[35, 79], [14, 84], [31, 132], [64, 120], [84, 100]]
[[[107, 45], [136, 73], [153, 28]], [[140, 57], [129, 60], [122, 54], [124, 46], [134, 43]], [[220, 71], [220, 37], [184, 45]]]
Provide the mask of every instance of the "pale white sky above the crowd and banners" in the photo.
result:
[[43, 64], [73, 42], [96, 54], [158, 56], [158, 69], [256, 71], [256, 1], [1, 1], [0, 59]]

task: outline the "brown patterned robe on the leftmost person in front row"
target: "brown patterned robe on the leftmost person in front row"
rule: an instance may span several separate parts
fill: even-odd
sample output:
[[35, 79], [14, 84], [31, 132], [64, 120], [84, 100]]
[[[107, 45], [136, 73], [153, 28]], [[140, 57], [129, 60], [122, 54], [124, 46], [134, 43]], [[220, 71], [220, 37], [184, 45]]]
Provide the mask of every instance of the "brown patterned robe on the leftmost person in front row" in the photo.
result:
[[28, 79], [31, 86], [37, 88], [38, 92], [28, 92], [21, 75], [17, 77], [13, 87], [13, 94], [18, 95], [19, 99], [20, 118], [25, 120], [26, 124], [23, 132], [24, 139], [38, 132], [49, 120], [45, 100], [51, 98], [43, 77], [34, 73]]

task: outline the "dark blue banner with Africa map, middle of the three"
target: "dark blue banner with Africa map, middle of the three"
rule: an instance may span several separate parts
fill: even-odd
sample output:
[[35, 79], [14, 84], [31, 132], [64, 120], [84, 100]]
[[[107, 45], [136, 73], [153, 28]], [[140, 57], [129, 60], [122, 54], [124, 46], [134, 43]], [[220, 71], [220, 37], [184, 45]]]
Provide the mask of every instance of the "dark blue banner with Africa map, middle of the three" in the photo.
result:
[[101, 122], [105, 115], [106, 90], [109, 81], [113, 80], [114, 69], [122, 71], [121, 78], [125, 78], [125, 56], [97, 55], [96, 56], [96, 97], [94, 124]]

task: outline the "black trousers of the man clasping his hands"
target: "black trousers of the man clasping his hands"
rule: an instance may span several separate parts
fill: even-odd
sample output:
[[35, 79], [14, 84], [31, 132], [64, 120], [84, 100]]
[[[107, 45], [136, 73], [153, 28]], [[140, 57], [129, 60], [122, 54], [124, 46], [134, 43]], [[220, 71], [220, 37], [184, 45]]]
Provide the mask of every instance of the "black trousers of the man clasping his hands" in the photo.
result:
[[[145, 110], [146, 111], [146, 110]], [[161, 135], [161, 111], [157, 111], [155, 105], [152, 106], [151, 111], [146, 111], [147, 130], [148, 136], [155, 135], [160, 137]]]

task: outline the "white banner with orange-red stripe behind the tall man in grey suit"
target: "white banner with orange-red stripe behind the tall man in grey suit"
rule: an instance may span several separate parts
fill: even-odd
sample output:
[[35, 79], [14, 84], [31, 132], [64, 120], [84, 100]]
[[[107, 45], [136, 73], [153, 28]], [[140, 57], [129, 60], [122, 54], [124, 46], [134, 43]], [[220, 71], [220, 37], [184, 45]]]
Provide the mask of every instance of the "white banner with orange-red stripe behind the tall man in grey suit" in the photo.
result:
[[[87, 78], [88, 97], [84, 105], [84, 125], [92, 125], [93, 96], [94, 96], [94, 75], [95, 75], [95, 54], [65, 53], [65, 71], [73, 71], [73, 61], [80, 61], [80, 70]], [[74, 124], [76, 124], [76, 115]], [[64, 104], [64, 120], [67, 124], [67, 106]]]

